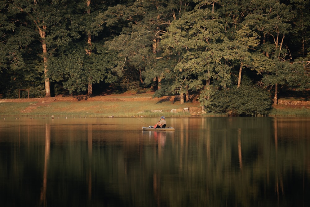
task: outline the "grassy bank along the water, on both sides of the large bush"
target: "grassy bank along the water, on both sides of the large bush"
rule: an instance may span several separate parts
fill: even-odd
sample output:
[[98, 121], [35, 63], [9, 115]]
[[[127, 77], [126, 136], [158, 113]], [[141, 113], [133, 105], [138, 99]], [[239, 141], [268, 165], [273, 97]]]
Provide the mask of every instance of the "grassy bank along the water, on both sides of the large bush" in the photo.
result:
[[[197, 102], [180, 104], [179, 101], [171, 102], [158, 99], [143, 101], [23, 101], [1, 102], [0, 116], [157, 117], [165, 115], [175, 117], [190, 116], [190, 113], [184, 112], [183, 109], [199, 107]], [[206, 113], [201, 116], [223, 116], [223, 114]], [[308, 106], [277, 106], [272, 109], [269, 116], [310, 116], [310, 108]]]

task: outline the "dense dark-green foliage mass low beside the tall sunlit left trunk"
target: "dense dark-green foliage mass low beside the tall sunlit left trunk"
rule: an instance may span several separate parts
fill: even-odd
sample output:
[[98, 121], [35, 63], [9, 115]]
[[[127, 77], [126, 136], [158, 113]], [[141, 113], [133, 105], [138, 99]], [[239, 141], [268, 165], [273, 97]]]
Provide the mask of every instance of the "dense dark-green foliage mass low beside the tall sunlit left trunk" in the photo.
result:
[[48, 62], [48, 76], [52, 81], [61, 82], [64, 89], [72, 92], [87, 90], [89, 83], [100, 83], [105, 77], [112, 82], [116, 79], [107, 68], [113, 67], [113, 54], [100, 43], [93, 43], [91, 55], [85, 53], [84, 44], [66, 47], [68, 51], [59, 56], [51, 56]]

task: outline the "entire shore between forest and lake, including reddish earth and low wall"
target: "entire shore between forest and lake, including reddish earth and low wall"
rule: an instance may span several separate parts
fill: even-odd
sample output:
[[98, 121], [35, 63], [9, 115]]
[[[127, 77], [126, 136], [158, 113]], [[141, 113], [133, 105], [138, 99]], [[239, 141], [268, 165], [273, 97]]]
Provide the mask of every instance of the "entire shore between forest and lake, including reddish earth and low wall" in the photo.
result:
[[[0, 116], [228, 116], [206, 113], [196, 100], [180, 104], [179, 96], [153, 98], [152, 93], [0, 99], [0, 105]], [[310, 116], [310, 101], [279, 99], [268, 116]]]

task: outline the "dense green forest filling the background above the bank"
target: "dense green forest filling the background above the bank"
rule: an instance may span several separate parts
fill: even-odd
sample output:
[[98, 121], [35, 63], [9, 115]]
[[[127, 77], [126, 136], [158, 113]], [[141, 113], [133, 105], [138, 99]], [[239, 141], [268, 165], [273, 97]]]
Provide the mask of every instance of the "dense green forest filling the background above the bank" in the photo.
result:
[[[0, 96], [151, 90], [266, 115], [310, 83], [308, 0], [3, 0]], [[308, 98], [305, 96], [306, 99]]]

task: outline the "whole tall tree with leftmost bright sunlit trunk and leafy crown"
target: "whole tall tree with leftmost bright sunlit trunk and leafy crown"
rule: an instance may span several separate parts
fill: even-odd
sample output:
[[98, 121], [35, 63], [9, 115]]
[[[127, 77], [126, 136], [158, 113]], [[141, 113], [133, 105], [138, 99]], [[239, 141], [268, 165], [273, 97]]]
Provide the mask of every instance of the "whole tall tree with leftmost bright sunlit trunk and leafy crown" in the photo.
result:
[[[73, 31], [69, 31], [71, 1], [27, 1], [16, 0], [9, 4], [9, 9], [27, 14], [23, 21], [25, 26], [37, 31], [37, 41], [41, 43], [43, 60], [43, 79], [45, 83], [45, 97], [51, 96], [50, 78], [48, 76], [48, 58], [53, 55], [57, 47], [66, 45], [71, 40]], [[76, 34], [73, 34], [76, 35]]]

